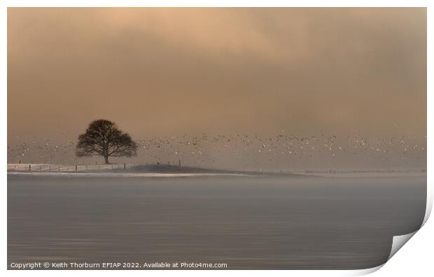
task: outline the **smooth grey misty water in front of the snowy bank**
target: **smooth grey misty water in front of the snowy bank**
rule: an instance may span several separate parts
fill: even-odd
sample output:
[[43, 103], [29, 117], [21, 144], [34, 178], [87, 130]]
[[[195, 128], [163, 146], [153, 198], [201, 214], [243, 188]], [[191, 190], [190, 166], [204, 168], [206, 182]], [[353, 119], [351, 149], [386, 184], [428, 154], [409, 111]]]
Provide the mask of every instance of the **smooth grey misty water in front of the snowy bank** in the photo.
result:
[[365, 269], [426, 207], [420, 176], [8, 174], [11, 262]]

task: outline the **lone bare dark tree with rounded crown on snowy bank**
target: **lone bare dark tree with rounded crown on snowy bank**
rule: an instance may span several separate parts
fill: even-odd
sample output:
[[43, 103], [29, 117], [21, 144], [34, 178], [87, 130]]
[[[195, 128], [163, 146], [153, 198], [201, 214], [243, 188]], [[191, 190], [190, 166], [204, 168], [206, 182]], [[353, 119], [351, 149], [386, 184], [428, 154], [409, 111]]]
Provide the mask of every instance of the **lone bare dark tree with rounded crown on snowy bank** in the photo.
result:
[[109, 120], [94, 120], [90, 122], [85, 134], [78, 136], [76, 156], [87, 157], [99, 155], [109, 164], [109, 157], [132, 157], [137, 155], [137, 143], [131, 136], [118, 129]]

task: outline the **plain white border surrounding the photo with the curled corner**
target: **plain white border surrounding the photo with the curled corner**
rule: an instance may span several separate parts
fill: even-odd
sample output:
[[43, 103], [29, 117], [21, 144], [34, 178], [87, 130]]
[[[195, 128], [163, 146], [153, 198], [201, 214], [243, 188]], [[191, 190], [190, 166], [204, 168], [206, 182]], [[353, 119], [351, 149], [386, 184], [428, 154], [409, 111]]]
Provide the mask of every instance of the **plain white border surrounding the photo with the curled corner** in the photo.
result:
[[[424, 222], [428, 219], [429, 213], [433, 206], [433, 178], [430, 172], [433, 172], [433, 11], [431, 10], [434, 6], [431, 4], [432, 1], [404, 1], [404, 0], [395, 0], [395, 1], [379, 1], [379, 0], [353, 0], [353, 1], [343, 1], [343, 0], [335, 0], [335, 1], [279, 1], [279, 0], [255, 0], [255, 1], [239, 1], [239, 0], [213, 0], [213, 1], [199, 1], [199, 0], [184, 0], [184, 1], [175, 1], [175, 0], [160, 0], [160, 1], [139, 1], [139, 0], [62, 0], [62, 1], [54, 1], [54, 0], [3, 0], [1, 1], [1, 23], [0, 23], [0, 35], [3, 40], [1, 41], [0, 51], [1, 51], [1, 67], [0, 67], [0, 87], [1, 87], [1, 104], [3, 108], [1, 109], [1, 122], [2, 122], [2, 136], [1, 140], [1, 158], [3, 160], [3, 175], [1, 176], [1, 187], [3, 189], [2, 200], [1, 201], [1, 215], [3, 228], [1, 228], [1, 238], [2, 238], [2, 267], [3, 270], [6, 271], [6, 260], [7, 260], [7, 236], [6, 236], [6, 222], [7, 222], [7, 186], [6, 186], [6, 164], [7, 164], [7, 7], [26, 7], [26, 6], [40, 6], [40, 7], [94, 7], [94, 6], [106, 6], [106, 7], [119, 7], [119, 6], [150, 6], [150, 7], [165, 7], [165, 6], [200, 6], [200, 7], [237, 7], [237, 6], [251, 6], [251, 7], [259, 7], [259, 6], [293, 6], [293, 7], [339, 7], [339, 6], [348, 6], [348, 7], [396, 7], [396, 6], [405, 6], [405, 7], [428, 7], [428, 96], [427, 96], [427, 105], [428, 105], [428, 203], [427, 203], [427, 213]], [[432, 221], [432, 220], [430, 220]], [[427, 276], [430, 272], [432, 272], [431, 259], [433, 246], [433, 238], [430, 234], [434, 234], [434, 225], [432, 222], [428, 221], [420, 232], [414, 236], [411, 240], [411, 243], [407, 243], [404, 247], [405, 250], [398, 251], [397, 255], [391, 259], [390, 262], [387, 262], [384, 265], [384, 269], [377, 271], [375, 274], [377, 276], [408, 276], [409, 274], [416, 274], [416, 276]], [[274, 276], [287, 276], [288, 274], [294, 276], [348, 276], [348, 275], [360, 275], [367, 274], [375, 269], [366, 269], [362, 271], [224, 271], [223, 274], [229, 274], [230, 276], [235, 276], [239, 274], [248, 274], [251, 276], [262, 276], [263, 274], [272, 274]], [[80, 274], [85, 275], [94, 275], [97, 273], [96, 271], [80, 271]], [[101, 272], [99, 272], [101, 273]], [[103, 274], [107, 276], [118, 276], [121, 272], [119, 271], [104, 271]], [[122, 272], [124, 273], [124, 272]], [[7, 271], [7, 274], [22, 276], [22, 275], [36, 275], [36, 276], [50, 276], [52, 274], [58, 275], [58, 271]], [[75, 271], [62, 271], [62, 275], [66, 274], [69, 276], [76, 275]], [[209, 276], [220, 276], [222, 272], [218, 271], [207, 271], [204, 273], [203, 271], [129, 271], [129, 274], [134, 275], [151, 275], [156, 276], [160, 274], [176, 274], [179, 276], [202, 276], [203, 274], [207, 274]]]

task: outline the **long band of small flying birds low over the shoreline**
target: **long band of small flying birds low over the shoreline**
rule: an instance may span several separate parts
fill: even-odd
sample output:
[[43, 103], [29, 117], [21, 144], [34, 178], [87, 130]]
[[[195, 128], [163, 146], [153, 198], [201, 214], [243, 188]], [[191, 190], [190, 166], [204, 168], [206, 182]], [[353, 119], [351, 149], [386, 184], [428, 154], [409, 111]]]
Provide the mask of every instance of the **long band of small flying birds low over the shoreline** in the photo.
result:
[[[393, 163], [426, 164], [426, 136], [400, 136], [372, 138], [353, 134], [349, 136], [319, 135], [295, 136], [276, 134], [201, 134], [191, 136], [155, 136], [137, 140], [138, 155], [123, 162], [175, 163], [192, 166], [224, 167], [236, 164], [238, 167], [259, 168], [276, 165], [321, 164], [327, 167], [333, 161], [351, 160]], [[75, 157], [75, 141], [51, 143], [49, 140], [17, 138], [14, 145], [8, 145], [9, 163], [94, 163], [99, 159]], [[339, 164], [339, 163], [336, 163]]]

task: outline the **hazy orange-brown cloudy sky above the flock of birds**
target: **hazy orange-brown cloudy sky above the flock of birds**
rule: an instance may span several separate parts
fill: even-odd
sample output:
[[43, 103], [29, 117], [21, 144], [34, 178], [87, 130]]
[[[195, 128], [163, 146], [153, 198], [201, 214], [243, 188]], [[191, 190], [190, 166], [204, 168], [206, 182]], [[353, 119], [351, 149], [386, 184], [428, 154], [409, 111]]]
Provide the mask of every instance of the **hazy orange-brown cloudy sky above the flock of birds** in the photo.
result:
[[8, 144], [426, 136], [426, 8], [8, 8]]

